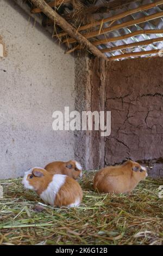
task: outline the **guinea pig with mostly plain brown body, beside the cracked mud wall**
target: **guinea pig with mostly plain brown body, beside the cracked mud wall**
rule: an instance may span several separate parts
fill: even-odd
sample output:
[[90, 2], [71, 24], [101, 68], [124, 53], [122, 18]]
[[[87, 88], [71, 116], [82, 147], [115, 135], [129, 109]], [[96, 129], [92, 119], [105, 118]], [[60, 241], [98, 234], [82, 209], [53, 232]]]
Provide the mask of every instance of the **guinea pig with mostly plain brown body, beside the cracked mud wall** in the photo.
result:
[[128, 160], [120, 165], [99, 170], [95, 175], [93, 186], [98, 192], [127, 193], [133, 191], [139, 181], [146, 176], [146, 167]]

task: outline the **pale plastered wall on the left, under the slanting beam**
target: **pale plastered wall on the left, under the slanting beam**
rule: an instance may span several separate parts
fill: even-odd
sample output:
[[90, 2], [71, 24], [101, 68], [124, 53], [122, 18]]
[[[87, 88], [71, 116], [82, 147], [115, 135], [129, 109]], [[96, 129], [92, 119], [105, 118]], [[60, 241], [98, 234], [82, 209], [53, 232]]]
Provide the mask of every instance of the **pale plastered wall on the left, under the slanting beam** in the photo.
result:
[[52, 113], [74, 108], [74, 59], [11, 2], [0, 0], [0, 179], [74, 157], [73, 132], [52, 130]]

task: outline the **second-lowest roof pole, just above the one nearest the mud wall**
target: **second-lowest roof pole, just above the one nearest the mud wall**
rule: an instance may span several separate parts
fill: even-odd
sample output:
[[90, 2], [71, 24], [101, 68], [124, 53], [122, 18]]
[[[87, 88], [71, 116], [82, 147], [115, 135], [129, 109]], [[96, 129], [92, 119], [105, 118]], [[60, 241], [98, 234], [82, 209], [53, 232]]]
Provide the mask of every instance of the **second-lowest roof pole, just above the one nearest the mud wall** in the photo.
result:
[[109, 47], [109, 48], [102, 49], [100, 51], [101, 52], [112, 52], [112, 51], [118, 51], [118, 50], [122, 50], [122, 49], [132, 48], [135, 46], [150, 45], [150, 44], [153, 44], [153, 42], [161, 42], [161, 41], [163, 41], [163, 37], [144, 40], [144, 41], [140, 41], [140, 42], [131, 42], [131, 44]]

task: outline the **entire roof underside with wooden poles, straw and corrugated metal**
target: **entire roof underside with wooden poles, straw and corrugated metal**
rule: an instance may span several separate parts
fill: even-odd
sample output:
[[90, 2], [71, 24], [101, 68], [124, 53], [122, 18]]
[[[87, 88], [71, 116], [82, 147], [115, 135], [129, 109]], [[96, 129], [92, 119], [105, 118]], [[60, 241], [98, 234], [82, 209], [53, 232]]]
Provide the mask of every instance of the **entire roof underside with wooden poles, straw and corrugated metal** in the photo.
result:
[[[44, 15], [44, 25], [55, 26], [55, 38], [67, 45], [68, 53], [86, 48], [97, 57], [116, 60], [123, 57], [156, 56], [159, 53], [156, 50], [163, 47], [163, 0], [46, 1], [51, 11], [54, 10], [59, 19], [64, 19], [64, 27], [58, 19], [45, 13], [45, 1], [29, 2], [33, 3], [32, 13]], [[48, 16], [46, 21], [45, 14]], [[67, 22], [71, 24], [71, 29], [68, 29]]]

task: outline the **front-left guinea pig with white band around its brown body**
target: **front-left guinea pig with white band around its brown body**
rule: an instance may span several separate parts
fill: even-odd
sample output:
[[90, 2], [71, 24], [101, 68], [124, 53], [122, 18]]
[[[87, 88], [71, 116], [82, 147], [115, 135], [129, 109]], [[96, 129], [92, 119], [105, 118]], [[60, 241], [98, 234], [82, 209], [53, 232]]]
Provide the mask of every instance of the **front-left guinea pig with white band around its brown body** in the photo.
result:
[[76, 180], [62, 174], [53, 175], [39, 167], [25, 172], [22, 184], [34, 190], [49, 205], [75, 207], [83, 197], [82, 188]]

